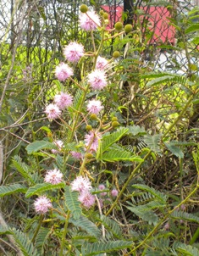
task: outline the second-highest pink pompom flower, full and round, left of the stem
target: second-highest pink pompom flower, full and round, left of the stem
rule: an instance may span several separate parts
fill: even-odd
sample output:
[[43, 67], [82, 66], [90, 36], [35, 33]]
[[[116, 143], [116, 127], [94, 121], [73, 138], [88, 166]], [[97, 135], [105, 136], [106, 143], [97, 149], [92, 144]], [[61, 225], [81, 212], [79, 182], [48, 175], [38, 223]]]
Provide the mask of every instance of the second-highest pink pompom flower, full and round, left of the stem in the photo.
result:
[[76, 63], [84, 56], [84, 47], [78, 42], [70, 42], [64, 47], [64, 57], [72, 63]]

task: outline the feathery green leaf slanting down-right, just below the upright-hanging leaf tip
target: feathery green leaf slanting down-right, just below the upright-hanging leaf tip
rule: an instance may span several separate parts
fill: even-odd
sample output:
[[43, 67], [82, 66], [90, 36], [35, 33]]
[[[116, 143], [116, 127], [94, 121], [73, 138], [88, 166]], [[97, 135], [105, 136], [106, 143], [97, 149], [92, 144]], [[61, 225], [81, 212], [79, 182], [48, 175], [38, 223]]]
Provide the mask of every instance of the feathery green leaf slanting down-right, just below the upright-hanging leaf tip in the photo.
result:
[[101, 238], [102, 232], [97, 228], [97, 225], [88, 220], [85, 216], [81, 215], [78, 220], [69, 219], [69, 222], [73, 223], [73, 225], [80, 227], [82, 230], [86, 231], [92, 237]]

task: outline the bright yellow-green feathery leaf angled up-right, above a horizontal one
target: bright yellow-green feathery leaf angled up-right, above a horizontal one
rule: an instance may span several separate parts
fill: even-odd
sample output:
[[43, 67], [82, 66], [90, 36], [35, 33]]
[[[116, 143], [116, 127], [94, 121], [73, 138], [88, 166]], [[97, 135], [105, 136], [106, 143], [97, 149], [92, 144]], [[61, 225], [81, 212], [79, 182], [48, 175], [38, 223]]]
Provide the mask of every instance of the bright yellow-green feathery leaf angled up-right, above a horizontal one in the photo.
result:
[[108, 147], [113, 145], [113, 143], [118, 142], [119, 139], [127, 133], [127, 131], [129, 131], [128, 128], [120, 127], [117, 131], [102, 136], [102, 152], [108, 150]]

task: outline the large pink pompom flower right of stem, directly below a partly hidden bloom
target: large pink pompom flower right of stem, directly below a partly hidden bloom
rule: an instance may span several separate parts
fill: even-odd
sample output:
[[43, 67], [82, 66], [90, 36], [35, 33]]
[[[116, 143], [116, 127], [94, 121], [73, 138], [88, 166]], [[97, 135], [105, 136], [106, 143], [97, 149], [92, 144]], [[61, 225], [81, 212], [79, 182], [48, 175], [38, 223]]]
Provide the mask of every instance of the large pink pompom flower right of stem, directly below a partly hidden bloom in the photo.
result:
[[107, 86], [107, 77], [102, 70], [93, 70], [88, 75], [88, 83], [93, 90], [102, 90]]

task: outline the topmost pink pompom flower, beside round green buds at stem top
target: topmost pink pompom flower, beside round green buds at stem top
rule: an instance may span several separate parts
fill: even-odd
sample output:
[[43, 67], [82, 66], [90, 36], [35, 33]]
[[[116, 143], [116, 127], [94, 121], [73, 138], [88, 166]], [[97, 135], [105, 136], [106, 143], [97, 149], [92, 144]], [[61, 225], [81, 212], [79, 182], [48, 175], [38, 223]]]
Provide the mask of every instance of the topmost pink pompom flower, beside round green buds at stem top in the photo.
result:
[[88, 11], [86, 14], [80, 14], [80, 28], [85, 31], [96, 31], [100, 26], [100, 17], [94, 11]]

